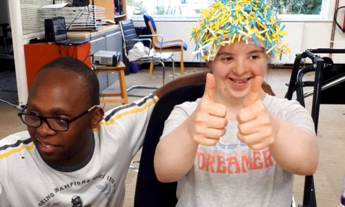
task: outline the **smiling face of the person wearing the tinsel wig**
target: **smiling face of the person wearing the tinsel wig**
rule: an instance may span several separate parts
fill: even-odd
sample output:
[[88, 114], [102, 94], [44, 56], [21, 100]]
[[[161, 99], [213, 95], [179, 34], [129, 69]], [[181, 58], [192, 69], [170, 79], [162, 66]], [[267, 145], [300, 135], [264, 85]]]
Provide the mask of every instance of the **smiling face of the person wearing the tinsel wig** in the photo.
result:
[[244, 101], [255, 76], [264, 77], [268, 57], [264, 48], [244, 41], [222, 46], [208, 68], [216, 79], [216, 99], [221, 103]]

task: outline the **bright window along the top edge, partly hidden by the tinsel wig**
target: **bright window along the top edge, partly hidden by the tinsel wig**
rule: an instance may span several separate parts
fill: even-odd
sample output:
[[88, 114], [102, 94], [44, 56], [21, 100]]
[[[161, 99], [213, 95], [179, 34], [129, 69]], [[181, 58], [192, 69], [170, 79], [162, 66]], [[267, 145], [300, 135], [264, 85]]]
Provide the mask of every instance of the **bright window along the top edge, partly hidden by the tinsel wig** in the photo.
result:
[[[326, 18], [329, 0], [271, 0], [283, 19]], [[161, 18], [197, 18], [214, 0], [127, 0], [133, 18], [150, 14]]]

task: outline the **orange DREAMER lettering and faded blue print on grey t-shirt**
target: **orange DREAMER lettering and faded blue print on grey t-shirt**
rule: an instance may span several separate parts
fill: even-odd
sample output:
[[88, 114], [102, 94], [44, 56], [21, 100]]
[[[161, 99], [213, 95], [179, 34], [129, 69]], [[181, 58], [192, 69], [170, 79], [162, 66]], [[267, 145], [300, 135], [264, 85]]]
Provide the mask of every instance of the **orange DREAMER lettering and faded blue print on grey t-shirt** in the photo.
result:
[[268, 148], [251, 150], [237, 138], [237, 123], [226, 126], [226, 134], [215, 146], [199, 145], [197, 167], [210, 173], [239, 174], [249, 170], [261, 170], [274, 165]]

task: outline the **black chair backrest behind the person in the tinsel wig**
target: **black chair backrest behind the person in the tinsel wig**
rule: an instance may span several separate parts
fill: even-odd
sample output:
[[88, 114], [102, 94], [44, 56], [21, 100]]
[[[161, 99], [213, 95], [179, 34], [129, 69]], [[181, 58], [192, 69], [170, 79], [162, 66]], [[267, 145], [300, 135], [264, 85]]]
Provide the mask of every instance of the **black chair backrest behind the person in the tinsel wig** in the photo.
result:
[[167, 92], [152, 111], [141, 151], [135, 206], [175, 206], [177, 182], [164, 184], [157, 180], [153, 167], [155, 149], [172, 108], [185, 101], [195, 101], [204, 94], [205, 83], [190, 83]]

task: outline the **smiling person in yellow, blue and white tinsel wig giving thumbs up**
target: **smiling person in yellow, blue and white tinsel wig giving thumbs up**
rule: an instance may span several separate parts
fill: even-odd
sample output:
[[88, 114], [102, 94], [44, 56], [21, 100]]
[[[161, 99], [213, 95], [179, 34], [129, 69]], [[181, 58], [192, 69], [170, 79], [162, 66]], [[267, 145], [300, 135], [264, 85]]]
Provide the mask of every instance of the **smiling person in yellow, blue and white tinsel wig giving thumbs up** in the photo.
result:
[[155, 152], [159, 181], [177, 181], [177, 206], [290, 206], [293, 175], [312, 175], [313, 119], [297, 101], [262, 90], [270, 57], [290, 52], [264, 0], [215, 1], [193, 28], [210, 69], [204, 96], [175, 106]]

